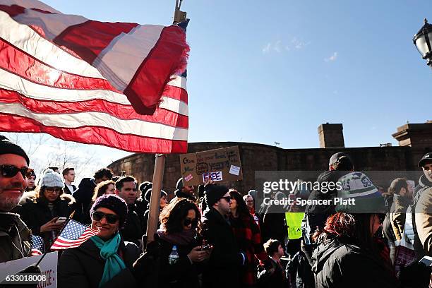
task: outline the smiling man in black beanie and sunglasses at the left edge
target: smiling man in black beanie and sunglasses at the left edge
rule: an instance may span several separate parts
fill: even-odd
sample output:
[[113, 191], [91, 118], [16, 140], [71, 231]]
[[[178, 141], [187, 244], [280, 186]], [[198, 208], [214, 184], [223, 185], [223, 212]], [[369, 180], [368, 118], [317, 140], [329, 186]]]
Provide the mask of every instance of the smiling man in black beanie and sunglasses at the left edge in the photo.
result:
[[18, 205], [32, 174], [30, 160], [20, 146], [0, 136], [0, 263], [30, 254], [30, 230], [19, 215]]

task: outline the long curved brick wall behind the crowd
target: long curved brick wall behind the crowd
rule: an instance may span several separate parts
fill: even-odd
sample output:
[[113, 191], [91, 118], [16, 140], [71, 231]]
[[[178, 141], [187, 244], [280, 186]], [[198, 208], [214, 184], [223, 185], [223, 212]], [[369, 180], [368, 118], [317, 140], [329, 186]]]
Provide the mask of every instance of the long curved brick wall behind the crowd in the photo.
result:
[[[415, 171], [410, 179], [418, 179], [420, 173], [417, 162], [432, 148], [364, 147], [364, 148], [314, 148], [282, 149], [256, 143], [200, 142], [189, 143], [188, 152], [198, 152], [229, 146], [239, 146], [244, 179], [227, 184], [242, 193], [255, 188], [256, 171], [323, 171], [328, 169], [328, 160], [335, 152], [351, 155], [359, 171]], [[115, 174], [126, 171], [139, 182], [152, 181], [155, 155], [135, 154], [116, 160], [109, 165]], [[399, 174], [395, 174], [397, 176]], [[399, 176], [404, 176], [400, 174]], [[181, 177], [180, 157], [168, 155], [165, 162], [163, 188], [167, 193], [175, 190], [176, 181]], [[414, 177], [414, 178], [413, 178]], [[380, 182], [388, 182], [380, 180]], [[388, 186], [389, 183], [377, 183]]]

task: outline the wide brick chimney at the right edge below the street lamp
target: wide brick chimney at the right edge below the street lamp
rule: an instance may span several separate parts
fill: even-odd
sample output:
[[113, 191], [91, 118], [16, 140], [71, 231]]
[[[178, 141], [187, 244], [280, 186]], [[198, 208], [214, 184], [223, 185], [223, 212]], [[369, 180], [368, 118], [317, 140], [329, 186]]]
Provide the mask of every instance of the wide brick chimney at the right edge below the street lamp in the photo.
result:
[[405, 124], [397, 127], [397, 132], [392, 136], [399, 141], [400, 146], [432, 148], [432, 121], [424, 124]]

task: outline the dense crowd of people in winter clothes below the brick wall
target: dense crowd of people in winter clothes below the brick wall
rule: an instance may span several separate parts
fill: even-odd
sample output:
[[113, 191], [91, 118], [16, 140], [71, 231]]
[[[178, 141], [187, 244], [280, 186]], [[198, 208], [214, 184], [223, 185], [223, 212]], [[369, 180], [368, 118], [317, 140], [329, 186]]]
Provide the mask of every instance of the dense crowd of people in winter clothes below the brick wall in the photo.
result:
[[[46, 251], [69, 218], [95, 236], [59, 253], [58, 287], [415, 287], [430, 285], [432, 153], [415, 187], [404, 178], [377, 188], [342, 152], [317, 181], [342, 189], [297, 189], [273, 199], [356, 200], [278, 212], [263, 192], [208, 181], [161, 191], [155, 240], [147, 231], [152, 183], [102, 168], [73, 185], [75, 169], [40, 179], [20, 146], [0, 136], [0, 263], [30, 256], [30, 235]], [[174, 197], [169, 200], [169, 196]], [[294, 216], [296, 215], [296, 216]], [[299, 217], [300, 216], [300, 217]], [[289, 230], [301, 222], [301, 232]], [[298, 236], [295, 236], [298, 235]], [[21, 271], [23, 272], [23, 271]]]

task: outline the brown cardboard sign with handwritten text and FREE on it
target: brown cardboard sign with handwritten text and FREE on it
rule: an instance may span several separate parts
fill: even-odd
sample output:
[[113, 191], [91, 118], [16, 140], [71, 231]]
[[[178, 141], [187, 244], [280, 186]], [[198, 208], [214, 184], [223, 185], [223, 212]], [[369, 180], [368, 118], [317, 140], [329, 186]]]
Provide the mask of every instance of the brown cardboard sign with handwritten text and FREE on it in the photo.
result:
[[184, 186], [243, 179], [239, 146], [180, 155], [180, 166]]

